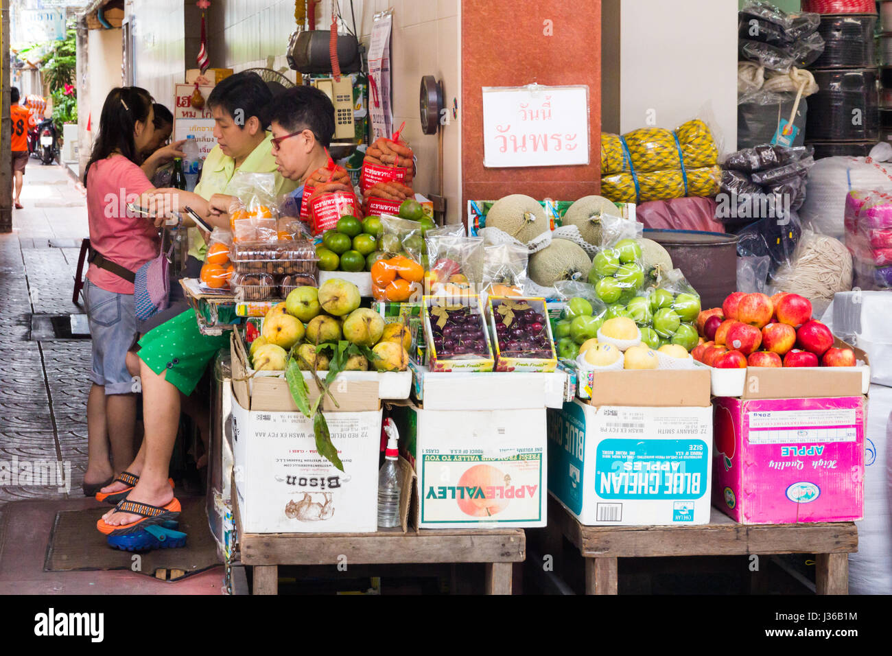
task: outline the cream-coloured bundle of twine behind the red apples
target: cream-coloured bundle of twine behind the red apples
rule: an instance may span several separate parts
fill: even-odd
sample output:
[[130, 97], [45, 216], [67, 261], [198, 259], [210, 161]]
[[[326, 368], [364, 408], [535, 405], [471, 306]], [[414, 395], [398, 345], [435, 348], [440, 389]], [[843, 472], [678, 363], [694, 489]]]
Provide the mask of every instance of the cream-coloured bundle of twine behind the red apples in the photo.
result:
[[852, 289], [852, 255], [833, 237], [804, 237], [793, 262], [780, 267], [773, 281], [781, 292], [830, 303], [837, 292]]

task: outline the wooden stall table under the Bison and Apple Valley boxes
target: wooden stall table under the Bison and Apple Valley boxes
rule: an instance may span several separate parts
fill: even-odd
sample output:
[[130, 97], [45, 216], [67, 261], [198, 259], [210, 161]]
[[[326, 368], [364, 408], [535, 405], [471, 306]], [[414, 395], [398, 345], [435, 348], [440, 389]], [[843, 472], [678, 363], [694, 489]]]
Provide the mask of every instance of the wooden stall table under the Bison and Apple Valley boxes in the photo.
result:
[[354, 565], [483, 562], [486, 594], [511, 594], [512, 563], [526, 558], [522, 528], [244, 533], [234, 506], [240, 559], [253, 568], [253, 594], [277, 594], [279, 565], [336, 565], [343, 558]]

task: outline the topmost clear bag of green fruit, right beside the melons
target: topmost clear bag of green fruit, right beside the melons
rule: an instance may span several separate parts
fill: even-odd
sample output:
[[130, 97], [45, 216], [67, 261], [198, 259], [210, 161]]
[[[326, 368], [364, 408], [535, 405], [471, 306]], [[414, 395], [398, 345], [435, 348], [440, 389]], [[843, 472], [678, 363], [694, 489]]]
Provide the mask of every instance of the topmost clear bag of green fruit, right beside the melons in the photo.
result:
[[601, 248], [591, 261], [589, 282], [607, 304], [628, 303], [644, 286], [644, 262], [638, 237], [644, 226], [634, 220], [601, 218]]

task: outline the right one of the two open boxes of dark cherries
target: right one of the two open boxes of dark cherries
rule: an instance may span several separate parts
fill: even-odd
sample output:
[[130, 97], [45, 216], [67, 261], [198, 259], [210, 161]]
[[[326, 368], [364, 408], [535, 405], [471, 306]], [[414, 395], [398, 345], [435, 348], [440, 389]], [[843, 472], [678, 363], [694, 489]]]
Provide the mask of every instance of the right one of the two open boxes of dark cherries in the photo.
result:
[[489, 297], [496, 371], [554, 371], [558, 367], [544, 298]]

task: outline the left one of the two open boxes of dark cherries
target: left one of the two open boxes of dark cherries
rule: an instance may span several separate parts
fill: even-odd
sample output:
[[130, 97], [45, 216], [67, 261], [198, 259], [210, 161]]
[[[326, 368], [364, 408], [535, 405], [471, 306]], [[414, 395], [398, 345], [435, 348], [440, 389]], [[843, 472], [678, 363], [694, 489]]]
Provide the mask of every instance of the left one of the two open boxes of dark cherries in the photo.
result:
[[492, 347], [478, 296], [424, 297], [431, 371], [491, 371]]

